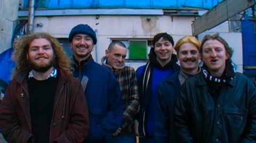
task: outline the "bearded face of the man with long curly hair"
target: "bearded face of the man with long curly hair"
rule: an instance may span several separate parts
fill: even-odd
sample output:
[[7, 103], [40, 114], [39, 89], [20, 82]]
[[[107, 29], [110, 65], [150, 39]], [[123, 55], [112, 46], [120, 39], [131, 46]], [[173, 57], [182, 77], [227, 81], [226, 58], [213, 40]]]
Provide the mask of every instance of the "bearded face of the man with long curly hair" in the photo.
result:
[[54, 64], [54, 52], [49, 40], [34, 39], [28, 49], [27, 60], [31, 69], [46, 72]]

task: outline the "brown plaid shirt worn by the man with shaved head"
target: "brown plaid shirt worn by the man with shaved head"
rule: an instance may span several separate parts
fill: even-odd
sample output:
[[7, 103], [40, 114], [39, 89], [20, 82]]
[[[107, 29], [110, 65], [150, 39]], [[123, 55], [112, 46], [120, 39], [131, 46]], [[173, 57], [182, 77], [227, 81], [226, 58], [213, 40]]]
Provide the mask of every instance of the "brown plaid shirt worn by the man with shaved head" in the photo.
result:
[[116, 71], [112, 70], [111, 66], [107, 65], [104, 60], [102, 60], [101, 63], [113, 72], [119, 81], [123, 94], [123, 122], [120, 135], [132, 133], [134, 132], [134, 117], [140, 110], [139, 91], [135, 70], [130, 66], [125, 66], [124, 69]]

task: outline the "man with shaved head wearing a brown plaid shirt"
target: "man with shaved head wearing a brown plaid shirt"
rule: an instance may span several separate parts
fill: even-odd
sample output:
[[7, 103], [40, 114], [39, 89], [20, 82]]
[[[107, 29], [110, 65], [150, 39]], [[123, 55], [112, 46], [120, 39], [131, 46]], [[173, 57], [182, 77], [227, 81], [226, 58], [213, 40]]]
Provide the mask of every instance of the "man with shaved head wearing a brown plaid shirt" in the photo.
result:
[[130, 66], [125, 66], [127, 54], [126, 46], [121, 41], [113, 41], [106, 50], [106, 56], [101, 58], [101, 64], [111, 70], [119, 81], [123, 100], [123, 122], [113, 134], [110, 142], [136, 142], [134, 133], [135, 115], [139, 112], [139, 94], [135, 70]]

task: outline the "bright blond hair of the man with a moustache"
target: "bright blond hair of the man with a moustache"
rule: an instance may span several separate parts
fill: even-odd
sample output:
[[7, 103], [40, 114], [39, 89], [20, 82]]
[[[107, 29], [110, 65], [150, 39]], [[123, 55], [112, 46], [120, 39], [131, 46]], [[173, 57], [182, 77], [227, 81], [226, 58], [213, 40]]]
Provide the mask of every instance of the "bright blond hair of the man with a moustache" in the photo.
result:
[[185, 37], [182, 37], [181, 39], [179, 39], [174, 47], [178, 56], [179, 56], [180, 46], [184, 43], [194, 44], [197, 47], [198, 51], [200, 51], [201, 45], [200, 45], [199, 41], [193, 36], [185, 36]]

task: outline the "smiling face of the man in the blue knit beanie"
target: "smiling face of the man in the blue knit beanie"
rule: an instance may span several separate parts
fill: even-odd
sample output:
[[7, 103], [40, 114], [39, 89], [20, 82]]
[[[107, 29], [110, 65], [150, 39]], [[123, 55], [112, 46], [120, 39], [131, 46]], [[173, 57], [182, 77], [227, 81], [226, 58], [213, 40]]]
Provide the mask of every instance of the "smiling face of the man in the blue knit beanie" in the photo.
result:
[[75, 35], [70, 46], [75, 56], [78, 58], [84, 58], [84, 60], [90, 56], [94, 48], [92, 38], [85, 34]]

